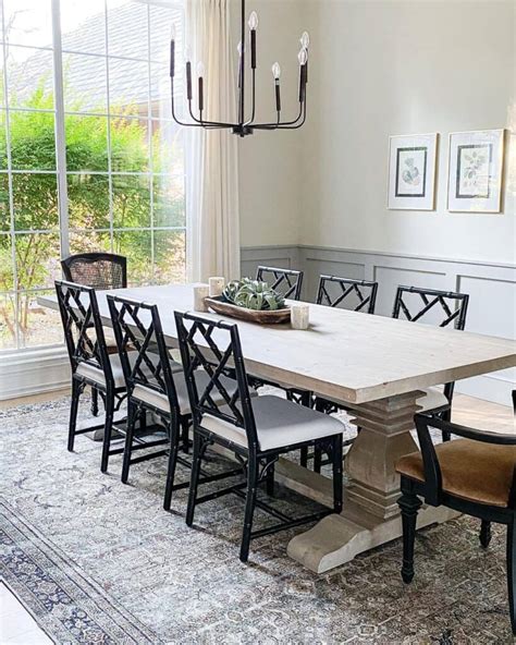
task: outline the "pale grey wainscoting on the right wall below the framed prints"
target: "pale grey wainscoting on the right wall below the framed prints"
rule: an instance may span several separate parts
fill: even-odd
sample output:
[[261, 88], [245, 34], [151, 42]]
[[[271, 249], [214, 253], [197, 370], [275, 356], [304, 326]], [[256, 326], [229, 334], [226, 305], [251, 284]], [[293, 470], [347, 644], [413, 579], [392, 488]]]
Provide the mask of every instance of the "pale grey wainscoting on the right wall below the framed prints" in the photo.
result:
[[[369, 253], [318, 246], [299, 247], [305, 270], [304, 297], [315, 300], [319, 273], [378, 280], [377, 313], [392, 314], [398, 284], [428, 287], [470, 294], [466, 329], [514, 339], [516, 336], [516, 266], [431, 257]], [[331, 268], [330, 268], [331, 267]], [[364, 268], [359, 270], [357, 267]], [[516, 388], [516, 369], [457, 382], [457, 391], [508, 405]]]

